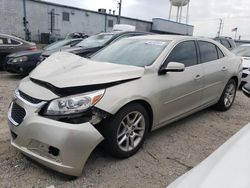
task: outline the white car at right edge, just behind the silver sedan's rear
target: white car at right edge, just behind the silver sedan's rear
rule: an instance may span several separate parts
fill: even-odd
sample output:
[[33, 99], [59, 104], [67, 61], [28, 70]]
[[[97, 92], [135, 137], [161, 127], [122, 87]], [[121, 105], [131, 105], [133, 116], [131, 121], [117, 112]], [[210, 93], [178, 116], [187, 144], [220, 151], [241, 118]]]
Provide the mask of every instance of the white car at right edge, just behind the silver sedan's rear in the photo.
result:
[[250, 82], [250, 44], [243, 44], [232, 50], [237, 56], [242, 57], [243, 60], [243, 73], [241, 85]]

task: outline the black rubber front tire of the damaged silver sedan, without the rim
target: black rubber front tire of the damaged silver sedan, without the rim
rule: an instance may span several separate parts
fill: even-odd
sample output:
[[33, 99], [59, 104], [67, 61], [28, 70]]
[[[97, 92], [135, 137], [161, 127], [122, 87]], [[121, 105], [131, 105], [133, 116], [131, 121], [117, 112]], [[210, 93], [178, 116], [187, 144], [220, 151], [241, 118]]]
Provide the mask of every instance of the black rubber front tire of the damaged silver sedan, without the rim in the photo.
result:
[[[138, 114], [143, 116], [143, 118], [144, 118], [143, 125], [145, 123], [145, 130], [144, 130], [143, 135], [141, 137], [138, 137], [138, 138], [141, 138], [141, 140], [139, 142], [137, 142], [138, 145], [134, 148], [132, 147], [133, 149], [131, 149], [130, 151], [124, 151], [121, 149], [121, 146], [119, 146], [119, 143], [118, 143], [119, 142], [118, 141], [118, 133], [119, 133], [118, 131], [120, 131], [121, 126], [124, 127], [123, 126], [124, 124], [122, 125], [122, 122], [125, 120], [125, 117], [128, 116], [129, 114], [133, 115], [132, 113], [134, 113], [134, 112], [139, 112]], [[136, 119], [136, 117], [135, 117], [135, 119]], [[123, 107], [121, 110], [119, 110], [119, 112], [113, 118], [110, 118], [109, 120], [107, 120], [104, 123], [103, 130], [102, 130], [102, 133], [105, 137], [104, 148], [113, 157], [128, 158], [128, 157], [134, 155], [141, 148], [141, 146], [146, 138], [146, 135], [148, 133], [148, 129], [149, 129], [149, 116], [148, 116], [148, 113], [145, 110], [145, 108], [138, 103], [128, 104], [125, 107]], [[134, 133], [132, 133], [132, 134], [134, 134]], [[122, 137], [125, 137], [125, 136], [127, 138], [129, 137], [129, 136], [127, 136], [127, 134], [125, 134]], [[126, 140], [126, 142], [129, 142], [131, 144], [130, 140], [129, 141]]]

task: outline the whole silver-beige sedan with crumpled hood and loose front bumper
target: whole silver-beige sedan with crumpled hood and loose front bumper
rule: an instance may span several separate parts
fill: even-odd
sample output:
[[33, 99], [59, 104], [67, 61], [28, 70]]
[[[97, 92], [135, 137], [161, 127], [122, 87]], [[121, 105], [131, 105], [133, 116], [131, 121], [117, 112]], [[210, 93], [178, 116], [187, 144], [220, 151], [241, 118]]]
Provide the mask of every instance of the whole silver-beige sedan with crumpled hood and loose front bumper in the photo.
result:
[[91, 59], [59, 52], [16, 89], [11, 144], [79, 176], [102, 140], [111, 155], [126, 158], [154, 129], [209, 106], [228, 110], [241, 71], [240, 58], [219, 43], [187, 36], [122, 39]]

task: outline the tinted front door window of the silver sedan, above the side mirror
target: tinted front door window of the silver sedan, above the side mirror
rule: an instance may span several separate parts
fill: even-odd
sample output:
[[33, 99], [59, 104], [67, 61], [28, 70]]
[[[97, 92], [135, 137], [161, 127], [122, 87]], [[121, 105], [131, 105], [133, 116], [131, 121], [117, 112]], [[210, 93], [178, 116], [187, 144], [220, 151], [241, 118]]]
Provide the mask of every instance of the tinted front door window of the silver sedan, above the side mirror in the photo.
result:
[[197, 64], [197, 53], [194, 41], [185, 41], [178, 44], [169, 54], [166, 64], [169, 62], [183, 63], [186, 67]]

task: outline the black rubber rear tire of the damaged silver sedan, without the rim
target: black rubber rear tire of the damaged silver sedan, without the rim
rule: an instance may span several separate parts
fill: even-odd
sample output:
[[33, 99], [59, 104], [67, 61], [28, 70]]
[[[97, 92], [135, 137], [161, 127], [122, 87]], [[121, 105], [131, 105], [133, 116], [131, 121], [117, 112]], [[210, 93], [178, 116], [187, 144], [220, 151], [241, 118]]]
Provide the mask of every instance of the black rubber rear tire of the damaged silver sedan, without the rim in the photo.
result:
[[[233, 86], [234, 87], [234, 93], [233, 93], [233, 98], [232, 98], [232, 101], [230, 102], [230, 104], [226, 104], [225, 102], [225, 98], [227, 97], [227, 91], [229, 89], [229, 87]], [[220, 97], [220, 100], [218, 101], [218, 103], [214, 106], [214, 108], [218, 111], [227, 111], [231, 108], [231, 106], [233, 105], [234, 103], [234, 99], [235, 99], [235, 96], [236, 96], [236, 91], [237, 91], [237, 85], [236, 85], [236, 82], [235, 80], [231, 79], [228, 81], [226, 87], [224, 88], [223, 90], [223, 93]]]

